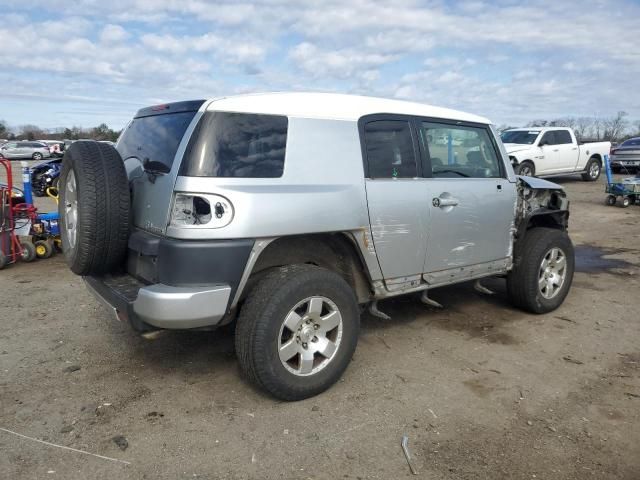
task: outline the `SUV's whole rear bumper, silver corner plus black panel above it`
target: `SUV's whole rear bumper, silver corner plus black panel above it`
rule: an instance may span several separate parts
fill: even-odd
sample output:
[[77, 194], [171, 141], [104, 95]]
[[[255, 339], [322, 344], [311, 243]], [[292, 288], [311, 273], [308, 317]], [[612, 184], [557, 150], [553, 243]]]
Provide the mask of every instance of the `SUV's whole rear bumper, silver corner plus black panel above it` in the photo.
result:
[[129, 238], [128, 273], [84, 281], [135, 330], [216, 326], [229, 312], [253, 243], [175, 240], [135, 231]]

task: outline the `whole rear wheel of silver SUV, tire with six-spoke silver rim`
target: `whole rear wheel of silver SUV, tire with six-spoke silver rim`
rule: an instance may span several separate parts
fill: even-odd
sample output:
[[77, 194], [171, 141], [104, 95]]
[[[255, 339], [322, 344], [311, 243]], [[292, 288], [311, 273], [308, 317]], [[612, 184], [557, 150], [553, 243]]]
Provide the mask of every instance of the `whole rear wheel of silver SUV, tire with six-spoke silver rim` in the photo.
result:
[[249, 380], [281, 400], [302, 400], [333, 385], [356, 349], [355, 295], [338, 274], [314, 265], [269, 272], [242, 306], [236, 353]]

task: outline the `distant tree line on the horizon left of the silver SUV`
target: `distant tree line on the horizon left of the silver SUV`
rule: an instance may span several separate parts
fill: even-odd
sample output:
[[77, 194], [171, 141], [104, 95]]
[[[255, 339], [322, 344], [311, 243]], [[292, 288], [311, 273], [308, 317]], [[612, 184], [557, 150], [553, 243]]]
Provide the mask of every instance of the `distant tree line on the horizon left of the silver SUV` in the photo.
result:
[[106, 123], [97, 127], [82, 128], [54, 128], [43, 129], [37, 125], [22, 125], [15, 129], [9, 129], [6, 122], [0, 120], [0, 138], [7, 140], [109, 140], [115, 142], [122, 130], [112, 130]]

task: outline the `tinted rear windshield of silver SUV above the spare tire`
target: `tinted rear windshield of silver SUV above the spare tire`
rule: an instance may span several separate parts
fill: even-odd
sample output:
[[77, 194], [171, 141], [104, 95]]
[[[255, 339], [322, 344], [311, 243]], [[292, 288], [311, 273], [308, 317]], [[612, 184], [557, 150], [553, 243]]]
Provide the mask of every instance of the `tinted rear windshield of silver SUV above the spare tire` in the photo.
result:
[[159, 162], [155, 170], [169, 172], [178, 145], [196, 112], [180, 112], [134, 118], [120, 136], [118, 151], [124, 160]]

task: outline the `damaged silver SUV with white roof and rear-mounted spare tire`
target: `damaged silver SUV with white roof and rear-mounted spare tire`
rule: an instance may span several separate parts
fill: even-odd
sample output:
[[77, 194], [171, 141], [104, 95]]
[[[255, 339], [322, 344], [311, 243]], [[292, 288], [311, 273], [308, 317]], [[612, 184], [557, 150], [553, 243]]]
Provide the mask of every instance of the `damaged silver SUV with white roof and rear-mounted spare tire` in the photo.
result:
[[[284, 400], [347, 367], [381, 299], [484, 277], [534, 313], [567, 295], [562, 188], [514, 175], [484, 118], [334, 94], [140, 110], [60, 180], [71, 269], [138, 331], [234, 323], [240, 366]], [[481, 287], [481, 285], [478, 285]]]

